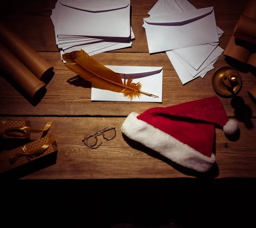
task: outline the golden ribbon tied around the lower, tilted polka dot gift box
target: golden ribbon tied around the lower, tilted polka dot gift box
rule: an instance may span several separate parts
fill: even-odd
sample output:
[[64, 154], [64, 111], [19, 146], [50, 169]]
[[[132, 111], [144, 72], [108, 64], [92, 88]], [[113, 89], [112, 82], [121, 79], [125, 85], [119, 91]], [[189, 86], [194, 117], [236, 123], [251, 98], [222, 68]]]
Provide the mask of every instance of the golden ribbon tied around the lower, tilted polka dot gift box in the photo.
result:
[[26, 145], [23, 145], [21, 148], [23, 150], [23, 153], [17, 152], [17, 154], [12, 154], [12, 155], [8, 155], [5, 156], [3, 158], [0, 158], [0, 162], [4, 162], [9, 160], [10, 163], [14, 163], [16, 160], [18, 160], [21, 157], [26, 157], [26, 159], [31, 162], [31, 158], [33, 157], [37, 157], [40, 156], [41, 154], [44, 153], [44, 151], [46, 151], [50, 145], [52, 145], [52, 143], [55, 141], [55, 136], [53, 135], [48, 142], [46, 142], [41, 148], [37, 148], [35, 150], [32, 151], [27, 151], [26, 149]]

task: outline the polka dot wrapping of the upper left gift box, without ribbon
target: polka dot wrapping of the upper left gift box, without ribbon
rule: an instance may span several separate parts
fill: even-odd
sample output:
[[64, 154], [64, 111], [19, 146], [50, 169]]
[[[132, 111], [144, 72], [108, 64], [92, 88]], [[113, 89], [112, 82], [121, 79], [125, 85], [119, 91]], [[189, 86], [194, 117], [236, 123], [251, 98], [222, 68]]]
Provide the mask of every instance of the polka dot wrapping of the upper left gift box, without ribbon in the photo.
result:
[[9, 128], [16, 128], [16, 127], [31, 127], [29, 120], [27, 121], [21, 121], [21, 120], [0, 120], [0, 138], [15, 138], [15, 139], [29, 139], [30, 133], [24, 135], [23, 133], [19, 131], [12, 131], [13, 133], [17, 135], [24, 135], [24, 137], [12, 137], [8, 134], [5, 134], [4, 131]]

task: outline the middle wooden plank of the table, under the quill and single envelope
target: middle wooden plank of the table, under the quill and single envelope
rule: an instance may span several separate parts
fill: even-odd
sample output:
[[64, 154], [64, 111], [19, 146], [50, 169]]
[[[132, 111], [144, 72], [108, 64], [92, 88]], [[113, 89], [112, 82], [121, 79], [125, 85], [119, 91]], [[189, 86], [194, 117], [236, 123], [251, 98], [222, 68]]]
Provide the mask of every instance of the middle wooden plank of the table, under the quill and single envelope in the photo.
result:
[[[156, 106], [165, 107], [216, 95], [211, 84], [214, 71], [209, 72], [204, 79], [198, 78], [183, 86], [164, 53], [154, 55], [146, 53], [102, 53], [96, 55], [95, 59], [105, 65], [163, 66], [163, 103], [91, 102], [90, 83], [79, 77], [69, 83], [68, 80], [76, 77], [76, 74], [64, 66], [59, 53], [45, 52], [41, 55], [55, 66], [55, 75], [47, 85], [47, 94], [37, 106], [33, 106], [12, 85], [0, 77], [1, 115], [127, 116], [131, 111], [141, 113]], [[227, 64], [221, 57], [215, 63], [215, 69], [225, 65]], [[248, 110], [245, 117], [250, 118], [256, 115], [256, 106], [248, 97], [247, 91], [252, 85], [256, 85], [256, 78], [252, 77], [251, 74], [242, 74], [242, 79], [243, 86], [239, 97], [244, 100]], [[234, 108], [230, 105], [231, 99], [221, 98], [221, 100], [228, 116], [236, 116]], [[243, 107], [244, 105], [239, 105], [240, 109]]]

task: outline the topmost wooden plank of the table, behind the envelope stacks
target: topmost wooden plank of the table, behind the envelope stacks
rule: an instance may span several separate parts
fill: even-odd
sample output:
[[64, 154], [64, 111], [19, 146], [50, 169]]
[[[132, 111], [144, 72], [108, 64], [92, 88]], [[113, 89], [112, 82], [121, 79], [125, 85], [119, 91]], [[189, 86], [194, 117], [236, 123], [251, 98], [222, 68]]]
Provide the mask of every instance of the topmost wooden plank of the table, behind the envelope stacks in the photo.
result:
[[[54, 28], [49, 17], [51, 10], [55, 7], [55, 2], [56, 0], [26, 0], [22, 2], [15, 0], [5, 3], [0, 17], [36, 51], [58, 51], [55, 44]], [[142, 27], [143, 18], [148, 17], [148, 11], [156, 2], [157, 0], [131, 0], [131, 26], [136, 39], [133, 41], [132, 48], [124, 48], [115, 52], [148, 53], [145, 29]], [[189, 2], [198, 9], [214, 6], [216, 23], [225, 31], [220, 39], [221, 47], [225, 48], [247, 1], [236, 1], [236, 4], [233, 0], [210, 2], [190, 0]]]

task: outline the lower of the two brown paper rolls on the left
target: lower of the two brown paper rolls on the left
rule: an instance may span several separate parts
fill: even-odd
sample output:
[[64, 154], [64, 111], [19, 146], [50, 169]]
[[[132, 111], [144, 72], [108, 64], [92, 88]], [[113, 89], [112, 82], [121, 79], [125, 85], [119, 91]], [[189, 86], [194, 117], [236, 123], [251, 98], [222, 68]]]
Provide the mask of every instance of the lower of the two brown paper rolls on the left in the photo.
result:
[[9, 74], [30, 97], [35, 94], [45, 84], [40, 81], [23, 63], [20, 62], [3, 44], [0, 43], [0, 68]]

